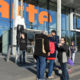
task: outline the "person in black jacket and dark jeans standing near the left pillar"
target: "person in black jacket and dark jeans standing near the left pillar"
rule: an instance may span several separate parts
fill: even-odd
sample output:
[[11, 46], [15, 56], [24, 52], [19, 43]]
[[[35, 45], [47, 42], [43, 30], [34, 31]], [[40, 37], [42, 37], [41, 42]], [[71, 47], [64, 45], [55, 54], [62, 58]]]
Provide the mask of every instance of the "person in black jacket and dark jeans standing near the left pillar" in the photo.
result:
[[24, 33], [20, 34], [19, 40], [19, 50], [20, 50], [20, 64], [25, 64], [25, 52], [27, 50], [27, 39]]

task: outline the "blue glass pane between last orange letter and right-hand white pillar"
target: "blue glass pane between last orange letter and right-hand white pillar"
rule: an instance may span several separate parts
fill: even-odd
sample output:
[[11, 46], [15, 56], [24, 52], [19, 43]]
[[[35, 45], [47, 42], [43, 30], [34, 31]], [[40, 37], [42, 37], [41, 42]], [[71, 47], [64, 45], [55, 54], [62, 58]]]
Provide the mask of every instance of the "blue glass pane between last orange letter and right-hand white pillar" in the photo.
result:
[[51, 33], [51, 30], [57, 30], [57, 4], [52, 1], [49, 2], [49, 14], [52, 18], [52, 22], [49, 23], [49, 33]]

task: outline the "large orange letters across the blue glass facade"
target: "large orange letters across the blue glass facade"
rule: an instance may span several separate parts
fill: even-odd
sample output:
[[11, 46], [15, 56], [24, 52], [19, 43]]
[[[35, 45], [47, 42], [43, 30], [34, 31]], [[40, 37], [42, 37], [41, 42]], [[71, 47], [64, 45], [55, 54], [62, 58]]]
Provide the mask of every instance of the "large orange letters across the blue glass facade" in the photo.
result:
[[[14, 5], [13, 5], [14, 8]], [[24, 6], [23, 6], [24, 10]], [[20, 12], [20, 6], [18, 7], [18, 13]], [[38, 9], [35, 9], [34, 5], [28, 4], [26, 7], [26, 12], [28, 13], [29, 22], [35, 22], [35, 14], [38, 15]], [[0, 13], [2, 18], [9, 19], [9, 3], [5, 0], [0, 0]], [[13, 13], [13, 9], [12, 9]], [[13, 15], [13, 14], [12, 14]], [[46, 16], [46, 17], [45, 17]], [[13, 18], [13, 16], [12, 16]], [[44, 22], [52, 22], [52, 18], [47, 11], [41, 11], [38, 15], [38, 21], [40, 24], [44, 24]]]

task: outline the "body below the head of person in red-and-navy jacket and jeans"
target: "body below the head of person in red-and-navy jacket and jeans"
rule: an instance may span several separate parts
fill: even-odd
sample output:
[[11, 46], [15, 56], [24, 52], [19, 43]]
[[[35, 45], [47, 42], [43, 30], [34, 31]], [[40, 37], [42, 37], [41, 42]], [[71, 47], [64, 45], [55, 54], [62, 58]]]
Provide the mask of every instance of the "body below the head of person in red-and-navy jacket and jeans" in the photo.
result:
[[48, 79], [54, 78], [54, 75], [52, 75], [53, 72], [53, 66], [54, 61], [56, 59], [55, 55], [55, 42], [53, 40], [53, 37], [49, 37], [49, 47], [50, 47], [50, 54], [48, 54], [47, 60], [49, 60], [49, 67], [48, 67]]

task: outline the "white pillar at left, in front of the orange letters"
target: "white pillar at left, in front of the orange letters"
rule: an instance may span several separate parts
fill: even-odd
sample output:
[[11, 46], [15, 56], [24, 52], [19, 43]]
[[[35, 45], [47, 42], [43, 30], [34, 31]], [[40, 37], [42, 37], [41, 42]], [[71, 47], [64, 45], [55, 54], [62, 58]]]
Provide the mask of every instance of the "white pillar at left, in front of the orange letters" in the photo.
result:
[[[14, 9], [13, 9], [13, 33], [12, 33], [12, 45], [16, 45], [17, 41], [16, 41], [16, 35], [17, 35], [17, 31], [16, 31], [16, 18], [18, 16], [18, 0], [14, 0]], [[12, 48], [12, 53], [13, 55], [16, 54], [16, 47]]]

